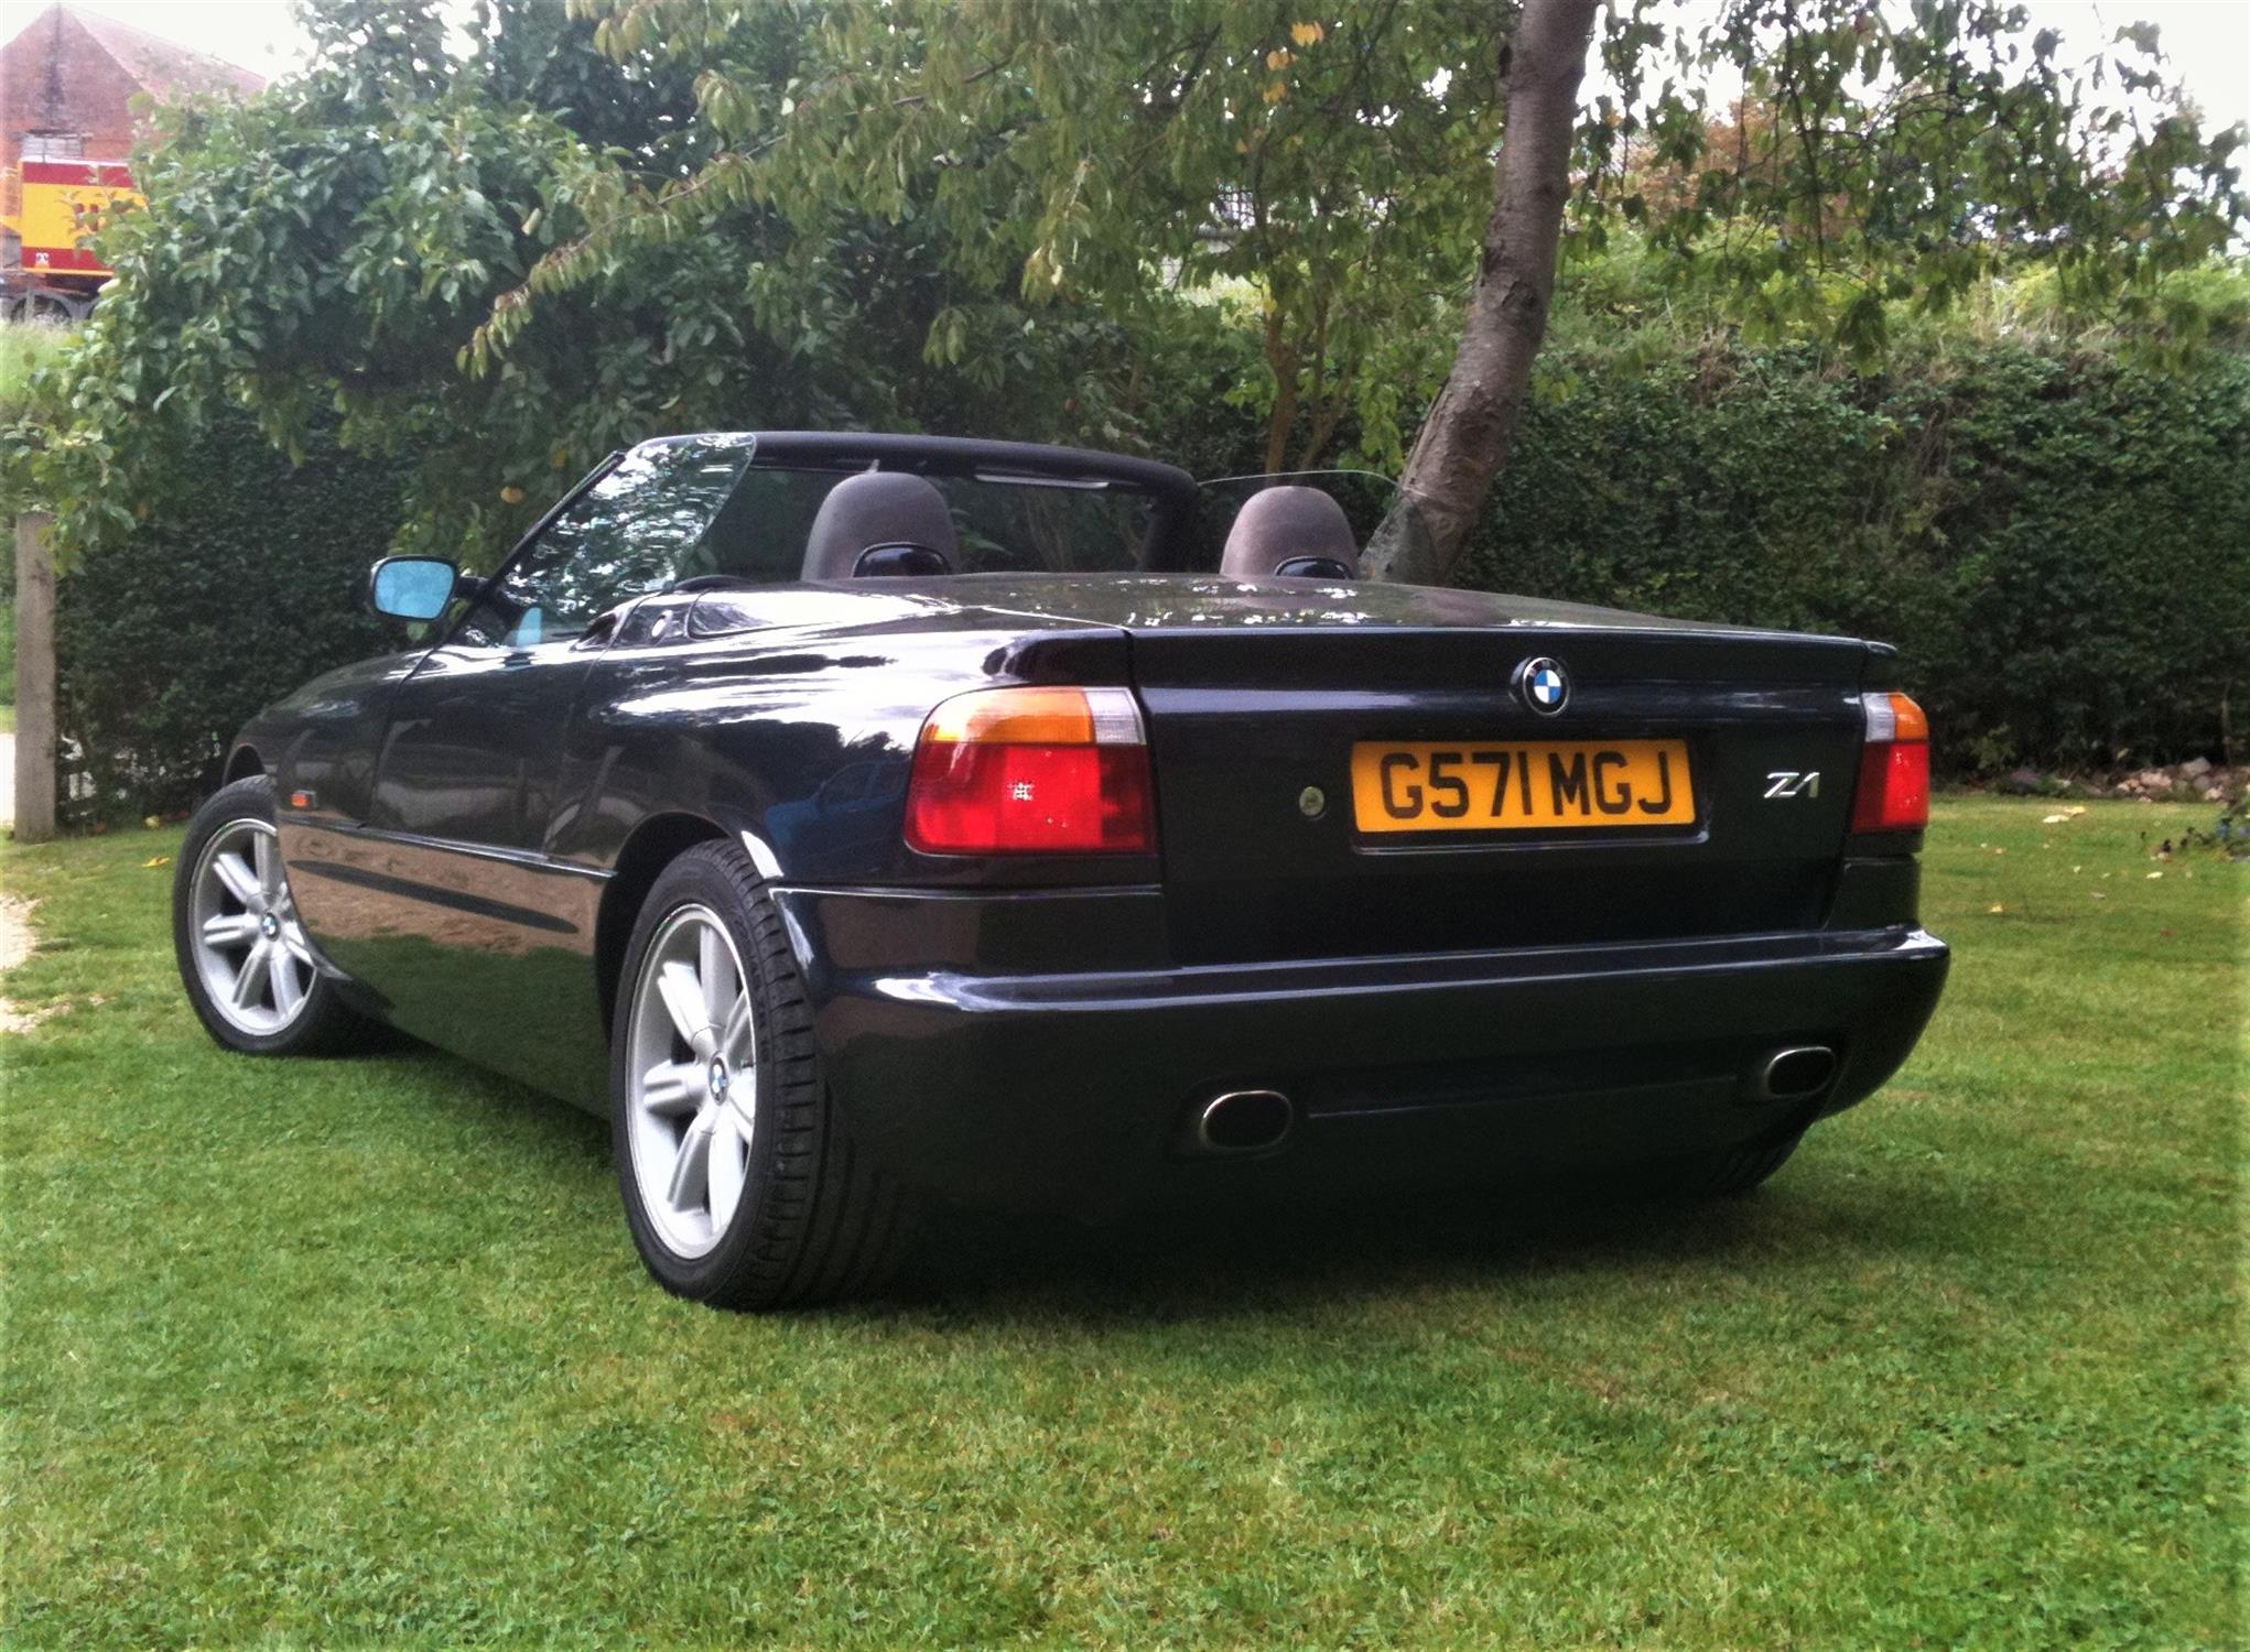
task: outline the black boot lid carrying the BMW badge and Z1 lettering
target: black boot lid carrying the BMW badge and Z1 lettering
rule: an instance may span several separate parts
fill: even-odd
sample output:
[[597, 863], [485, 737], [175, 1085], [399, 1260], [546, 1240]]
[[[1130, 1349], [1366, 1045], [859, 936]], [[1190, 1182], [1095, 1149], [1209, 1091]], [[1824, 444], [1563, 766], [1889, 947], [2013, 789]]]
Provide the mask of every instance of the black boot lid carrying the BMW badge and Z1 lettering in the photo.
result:
[[[1411, 587], [1339, 584], [1325, 616], [1300, 582], [1226, 596], [1224, 616], [1213, 591], [1188, 605], [1188, 623], [1179, 607], [1127, 623], [1179, 962], [1822, 922], [1850, 827], [1868, 645]], [[1267, 600], [1276, 611], [1260, 611]], [[1534, 659], [1568, 681], [1557, 712], [1514, 686]], [[1361, 742], [1413, 748], [1415, 762], [1460, 751], [1438, 773], [1478, 789], [1519, 769], [1541, 809], [1559, 798], [1577, 825], [1361, 829]], [[1678, 742], [1692, 818], [1618, 825], [1598, 811], [1564, 764], [1613, 742]], [[1528, 757], [1530, 775], [1501, 753]], [[1622, 796], [1613, 782], [1602, 800]]]

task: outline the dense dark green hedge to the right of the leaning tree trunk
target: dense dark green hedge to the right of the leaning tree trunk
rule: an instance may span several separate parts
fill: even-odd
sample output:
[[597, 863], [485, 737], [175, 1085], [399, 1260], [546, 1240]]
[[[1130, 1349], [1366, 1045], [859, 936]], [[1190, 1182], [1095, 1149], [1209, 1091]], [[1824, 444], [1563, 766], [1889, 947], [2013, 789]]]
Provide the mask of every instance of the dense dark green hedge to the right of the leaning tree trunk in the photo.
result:
[[1955, 773], [2216, 757], [2250, 681], [2250, 355], [1557, 357], [1465, 582], [1897, 643]]

